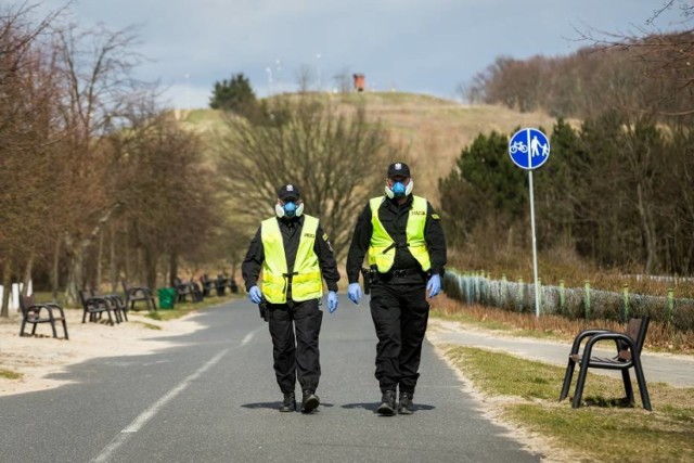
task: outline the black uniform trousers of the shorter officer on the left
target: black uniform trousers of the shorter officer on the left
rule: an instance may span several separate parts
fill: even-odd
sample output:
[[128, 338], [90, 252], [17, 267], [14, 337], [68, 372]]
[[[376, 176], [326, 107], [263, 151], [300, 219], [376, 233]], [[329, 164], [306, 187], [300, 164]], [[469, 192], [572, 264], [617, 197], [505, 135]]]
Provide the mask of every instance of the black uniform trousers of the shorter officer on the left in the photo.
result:
[[274, 374], [284, 394], [294, 393], [297, 377], [301, 390], [318, 388], [321, 376], [318, 336], [323, 320], [318, 300], [268, 304]]

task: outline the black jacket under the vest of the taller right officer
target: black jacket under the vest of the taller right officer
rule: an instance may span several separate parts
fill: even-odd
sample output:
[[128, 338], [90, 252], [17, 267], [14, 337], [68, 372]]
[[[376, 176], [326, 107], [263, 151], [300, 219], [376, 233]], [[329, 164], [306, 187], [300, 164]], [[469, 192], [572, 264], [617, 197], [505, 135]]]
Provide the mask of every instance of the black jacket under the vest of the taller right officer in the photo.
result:
[[[397, 245], [393, 270], [421, 270], [420, 262], [416, 261], [412, 253], [410, 253], [410, 249], [404, 245], [407, 243], [407, 226], [410, 209], [412, 209], [412, 195], [408, 196], [408, 201], [402, 205], [398, 205], [396, 200], [389, 200], [384, 196], [384, 201], [381, 203], [381, 207], [378, 207], [378, 219]], [[364, 256], [369, 250], [372, 233], [371, 206], [367, 203], [367, 207], [357, 220], [351, 244], [349, 245], [349, 254], [347, 255], [347, 278], [349, 279], [349, 283], [359, 282], [359, 272]], [[426, 241], [426, 247], [429, 252], [429, 258], [432, 259], [432, 274], [442, 275], [444, 267], [446, 266], [446, 239], [439, 216], [428, 201], [426, 202], [424, 240]]]

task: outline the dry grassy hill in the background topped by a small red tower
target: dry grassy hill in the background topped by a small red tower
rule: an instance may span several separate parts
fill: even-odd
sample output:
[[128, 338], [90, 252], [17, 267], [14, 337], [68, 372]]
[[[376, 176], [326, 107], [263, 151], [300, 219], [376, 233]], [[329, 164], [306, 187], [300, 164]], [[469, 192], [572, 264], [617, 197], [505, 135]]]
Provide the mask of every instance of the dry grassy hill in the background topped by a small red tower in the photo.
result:
[[[517, 127], [543, 127], [550, 130], [554, 124], [554, 118], [543, 113], [517, 113], [502, 106], [464, 105], [415, 93], [368, 92], [325, 94], [324, 98], [345, 110], [362, 104], [372, 120], [381, 120], [393, 140], [404, 149], [402, 159], [393, 160], [410, 164], [415, 192], [429, 198], [434, 205], [439, 203], [438, 179], [449, 173], [461, 150], [478, 133], [491, 130], [510, 133]], [[179, 119], [203, 133], [222, 124], [219, 112], [215, 110], [179, 112]], [[382, 169], [385, 178], [386, 166], [382, 166]]]

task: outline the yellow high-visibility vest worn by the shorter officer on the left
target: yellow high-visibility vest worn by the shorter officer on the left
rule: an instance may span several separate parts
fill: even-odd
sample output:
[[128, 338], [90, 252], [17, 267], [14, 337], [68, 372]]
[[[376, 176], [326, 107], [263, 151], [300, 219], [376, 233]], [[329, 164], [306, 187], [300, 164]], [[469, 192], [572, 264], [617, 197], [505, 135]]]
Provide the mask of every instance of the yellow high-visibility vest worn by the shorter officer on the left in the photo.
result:
[[[320, 263], [313, 252], [317, 230], [318, 219], [304, 215], [304, 226], [292, 275], [292, 299], [296, 301], [318, 299], [323, 295]], [[284, 304], [288, 275], [282, 232], [277, 218], [262, 221], [260, 237], [265, 252], [262, 295], [272, 304]]]

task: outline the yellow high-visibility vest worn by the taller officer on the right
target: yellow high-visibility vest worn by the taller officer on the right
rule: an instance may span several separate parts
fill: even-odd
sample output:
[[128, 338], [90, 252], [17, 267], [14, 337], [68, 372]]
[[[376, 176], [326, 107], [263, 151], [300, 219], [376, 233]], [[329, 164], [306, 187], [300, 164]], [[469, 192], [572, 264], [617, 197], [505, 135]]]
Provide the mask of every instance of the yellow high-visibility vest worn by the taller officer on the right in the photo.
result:
[[[389, 271], [393, 262], [395, 262], [395, 241], [383, 227], [383, 223], [381, 223], [381, 219], [378, 219], [378, 208], [384, 201], [384, 196], [374, 197], [369, 201], [369, 205], [371, 206], [371, 224], [373, 227], [369, 246], [369, 265], [375, 265], [381, 273]], [[426, 200], [421, 196], [412, 196], [412, 208], [410, 209], [406, 230], [407, 244], [410, 253], [412, 253], [412, 257], [420, 262], [423, 271], [432, 268], [429, 253], [426, 249], [426, 242], [424, 241], [426, 210]]]

